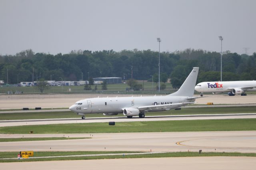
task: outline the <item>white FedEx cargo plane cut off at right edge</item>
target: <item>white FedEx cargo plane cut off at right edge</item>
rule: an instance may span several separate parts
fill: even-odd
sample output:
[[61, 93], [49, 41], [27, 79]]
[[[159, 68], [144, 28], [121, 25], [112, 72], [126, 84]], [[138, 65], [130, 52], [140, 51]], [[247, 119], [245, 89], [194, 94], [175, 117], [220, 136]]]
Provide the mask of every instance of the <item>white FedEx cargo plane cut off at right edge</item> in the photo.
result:
[[212, 81], [198, 83], [195, 90], [201, 93], [228, 93], [230, 96], [241, 95], [244, 96], [245, 91], [256, 91], [256, 81]]

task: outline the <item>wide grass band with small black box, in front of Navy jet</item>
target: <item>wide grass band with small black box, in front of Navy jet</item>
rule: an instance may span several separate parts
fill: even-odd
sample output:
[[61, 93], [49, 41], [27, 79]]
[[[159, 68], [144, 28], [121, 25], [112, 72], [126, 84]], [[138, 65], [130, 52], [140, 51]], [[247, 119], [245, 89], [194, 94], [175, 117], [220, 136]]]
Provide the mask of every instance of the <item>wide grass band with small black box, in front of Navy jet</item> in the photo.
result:
[[117, 133], [117, 132], [202, 132], [256, 130], [256, 119], [145, 121], [108, 123], [76, 123], [0, 127], [4, 134]]

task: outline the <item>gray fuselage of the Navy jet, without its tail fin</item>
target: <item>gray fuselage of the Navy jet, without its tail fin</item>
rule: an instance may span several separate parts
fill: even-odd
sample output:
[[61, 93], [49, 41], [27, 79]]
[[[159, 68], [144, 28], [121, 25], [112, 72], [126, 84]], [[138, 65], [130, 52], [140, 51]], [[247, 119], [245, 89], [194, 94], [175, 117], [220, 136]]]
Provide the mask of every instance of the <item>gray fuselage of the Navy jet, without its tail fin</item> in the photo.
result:
[[69, 109], [76, 113], [122, 113], [124, 108], [150, 106], [150, 105], [166, 105], [172, 103], [182, 103], [180, 105], [170, 105], [166, 108], [145, 109], [145, 111], [166, 111], [175, 109], [184, 105], [186, 102], [194, 102], [195, 99], [187, 99], [188, 97], [171, 97], [171, 96], [147, 96], [147, 97], [102, 97], [89, 98], [77, 101]]

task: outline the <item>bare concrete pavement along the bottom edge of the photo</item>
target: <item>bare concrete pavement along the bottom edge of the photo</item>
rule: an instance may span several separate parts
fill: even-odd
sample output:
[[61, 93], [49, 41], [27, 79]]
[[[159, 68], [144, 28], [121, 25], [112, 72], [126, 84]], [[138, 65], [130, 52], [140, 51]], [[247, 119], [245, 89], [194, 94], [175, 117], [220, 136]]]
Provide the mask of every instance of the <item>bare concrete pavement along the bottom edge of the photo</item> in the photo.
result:
[[105, 160], [66, 160], [49, 162], [1, 163], [1, 169], [27, 170], [255, 170], [255, 157], [182, 157], [182, 158], [135, 158]]

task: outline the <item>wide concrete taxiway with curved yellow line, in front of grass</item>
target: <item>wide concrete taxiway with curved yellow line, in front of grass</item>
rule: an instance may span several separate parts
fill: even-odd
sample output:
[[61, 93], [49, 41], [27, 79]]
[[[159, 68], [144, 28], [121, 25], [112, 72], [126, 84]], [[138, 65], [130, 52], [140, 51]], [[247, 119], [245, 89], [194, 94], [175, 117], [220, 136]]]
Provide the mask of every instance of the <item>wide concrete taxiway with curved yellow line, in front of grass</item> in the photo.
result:
[[0, 138], [91, 137], [72, 140], [1, 142], [0, 152], [33, 151], [143, 151], [256, 153], [256, 131], [145, 132], [99, 134], [0, 134]]

